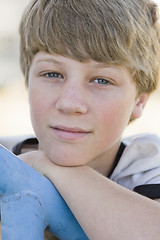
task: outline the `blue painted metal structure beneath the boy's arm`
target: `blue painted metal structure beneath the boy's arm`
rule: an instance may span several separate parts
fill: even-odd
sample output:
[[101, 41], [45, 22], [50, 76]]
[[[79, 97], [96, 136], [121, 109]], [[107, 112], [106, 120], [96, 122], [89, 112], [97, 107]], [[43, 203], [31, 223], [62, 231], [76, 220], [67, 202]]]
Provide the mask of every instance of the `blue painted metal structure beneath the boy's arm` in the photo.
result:
[[54, 185], [0, 145], [2, 240], [42, 240], [48, 227], [61, 240], [87, 240]]

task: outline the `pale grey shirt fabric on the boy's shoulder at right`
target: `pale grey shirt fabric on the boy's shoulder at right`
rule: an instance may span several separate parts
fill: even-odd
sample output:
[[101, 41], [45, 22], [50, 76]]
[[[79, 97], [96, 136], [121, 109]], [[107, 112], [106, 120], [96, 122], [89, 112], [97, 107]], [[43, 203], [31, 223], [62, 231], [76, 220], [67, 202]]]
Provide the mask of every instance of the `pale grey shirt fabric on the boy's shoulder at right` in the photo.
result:
[[126, 148], [111, 180], [133, 190], [138, 185], [160, 183], [160, 137], [141, 134], [124, 138]]

